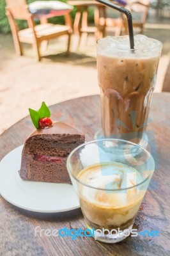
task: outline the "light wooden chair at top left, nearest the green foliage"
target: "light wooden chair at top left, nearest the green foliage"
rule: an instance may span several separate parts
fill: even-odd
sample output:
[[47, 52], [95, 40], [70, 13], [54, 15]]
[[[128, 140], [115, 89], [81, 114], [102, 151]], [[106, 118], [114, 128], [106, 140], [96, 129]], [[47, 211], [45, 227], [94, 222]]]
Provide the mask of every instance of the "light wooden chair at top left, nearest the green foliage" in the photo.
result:
[[[56, 38], [61, 35], [68, 35], [68, 45], [66, 53], [70, 49], [70, 37], [72, 35], [72, 28], [69, 14], [65, 16], [66, 25], [54, 25], [50, 23], [44, 23], [35, 26], [34, 17], [29, 12], [26, 0], [6, 0], [6, 15], [10, 22], [12, 30], [13, 42], [15, 45], [15, 51], [18, 55], [22, 55], [22, 42], [32, 44], [36, 52], [36, 58], [38, 61], [41, 60], [40, 56], [40, 44], [42, 41], [48, 41], [52, 38]], [[27, 29], [19, 30], [16, 19], [27, 20]]]

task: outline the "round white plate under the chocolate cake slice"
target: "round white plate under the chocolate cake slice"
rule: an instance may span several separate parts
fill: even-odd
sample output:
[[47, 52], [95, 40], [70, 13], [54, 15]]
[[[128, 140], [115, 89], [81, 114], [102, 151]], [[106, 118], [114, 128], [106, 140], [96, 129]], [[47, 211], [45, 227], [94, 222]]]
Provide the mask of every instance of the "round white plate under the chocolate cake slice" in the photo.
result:
[[80, 207], [70, 184], [22, 180], [19, 176], [23, 145], [0, 163], [0, 194], [13, 205], [35, 212], [63, 212]]

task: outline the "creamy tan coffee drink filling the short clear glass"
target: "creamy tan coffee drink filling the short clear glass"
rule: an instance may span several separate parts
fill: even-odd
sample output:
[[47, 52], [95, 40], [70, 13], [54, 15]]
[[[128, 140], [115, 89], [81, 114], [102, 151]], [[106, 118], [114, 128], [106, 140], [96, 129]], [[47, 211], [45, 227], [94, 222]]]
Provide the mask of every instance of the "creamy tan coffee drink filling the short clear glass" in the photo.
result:
[[[112, 168], [112, 175], [104, 175], [104, 170], [108, 171], [108, 167]], [[134, 168], [121, 163], [94, 164], [82, 170], [77, 178], [89, 186], [95, 184], [98, 188], [105, 188], [105, 184], [112, 182], [113, 189], [122, 189], [123, 180], [130, 186], [130, 189], [109, 193], [79, 184], [80, 204], [86, 224], [91, 228], [109, 230], [123, 230], [133, 225], [144, 196], [143, 190], [132, 187], [136, 183], [136, 177], [142, 179]]]

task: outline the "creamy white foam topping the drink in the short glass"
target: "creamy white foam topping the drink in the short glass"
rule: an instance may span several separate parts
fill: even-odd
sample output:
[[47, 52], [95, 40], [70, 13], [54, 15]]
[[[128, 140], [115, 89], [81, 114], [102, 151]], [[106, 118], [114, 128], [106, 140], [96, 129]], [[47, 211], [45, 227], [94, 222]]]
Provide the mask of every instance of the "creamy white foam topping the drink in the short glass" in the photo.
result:
[[107, 207], [123, 207], [132, 204], [135, 201], [135, 197], [143, 194], [142, 191], [138, 191], [134, 187], [143, 181], [141, 174], [125, 164], [94, 164], [82, 170], [77, 179], [93, 188], [125, 189], [106, 191], [82, 186], [82, 197], [93, 204], [101, 204]]

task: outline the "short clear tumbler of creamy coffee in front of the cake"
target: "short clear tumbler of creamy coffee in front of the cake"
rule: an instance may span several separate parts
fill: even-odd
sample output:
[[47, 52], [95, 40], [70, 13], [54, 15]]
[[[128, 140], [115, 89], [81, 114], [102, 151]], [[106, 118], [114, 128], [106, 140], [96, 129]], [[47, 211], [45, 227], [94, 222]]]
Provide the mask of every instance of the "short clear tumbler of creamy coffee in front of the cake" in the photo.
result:
[[67, 170], [95, 239], [129, 236], [154, 168], [148, 151], [125, 140], [91, 141], [70, 153]]

